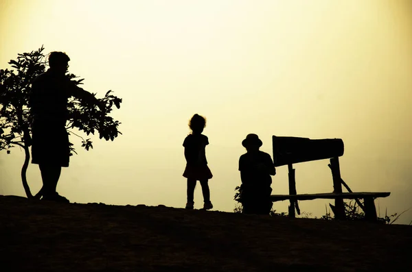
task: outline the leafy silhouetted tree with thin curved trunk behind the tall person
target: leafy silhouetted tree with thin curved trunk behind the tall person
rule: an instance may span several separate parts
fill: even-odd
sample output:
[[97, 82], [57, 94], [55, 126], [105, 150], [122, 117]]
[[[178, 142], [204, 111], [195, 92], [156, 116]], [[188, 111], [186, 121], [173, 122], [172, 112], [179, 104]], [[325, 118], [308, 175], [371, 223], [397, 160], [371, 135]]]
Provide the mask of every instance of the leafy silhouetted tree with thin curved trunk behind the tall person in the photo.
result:
[[[30, 88], [33, 79], [45, 72], [47, 67], [46, 56], [43, 53], [44, 47], [30, 53], [19, 53], [16, 60], [10, 60], [10, 64], [16, 71], [0, 70], [0, 151], [5, 150], [8, 154], [15, 146], [21, 147], [25, 151], [25, 160], [21, 169], [21, 181], [27, 198], [40, 198], [41, 192], [32, 195], [30, 186], [27, 183], [27, 167], [30, 163], [31, 126], [32, 116], [28, 106]], [[76, 85], [82, 84], [84, 79], [78, 79], [76, 75], [67, 74]], [[95, 95], [93, 93], [93, 95]], [[99, 138], [114, 140], [118, 134], [119, 121], [115, 121], [108, 114], [113, 106], [120, 108], [122, 99], [112, 94], [111, 90], [106, 95], [98, 99], [106, 105], [104, 111], [100, 111], [93, 106], [82, 103], [79, 99], [71, 97], [68, 101], [69, 119], [66, 129], [70, 134], [74, 134], [69, 129], [76, 127], [80, 131], [89, 134], [99, 132]], [[78, 134], [74, 134], [79, 136]], [[79, 136], [82, 138], [81, 136]], [[76, 153], [73, 144], [70, 143], [70, 155]], [[82, 138], [82, 147], [89, 150], [93, 148], [90, 138]]]

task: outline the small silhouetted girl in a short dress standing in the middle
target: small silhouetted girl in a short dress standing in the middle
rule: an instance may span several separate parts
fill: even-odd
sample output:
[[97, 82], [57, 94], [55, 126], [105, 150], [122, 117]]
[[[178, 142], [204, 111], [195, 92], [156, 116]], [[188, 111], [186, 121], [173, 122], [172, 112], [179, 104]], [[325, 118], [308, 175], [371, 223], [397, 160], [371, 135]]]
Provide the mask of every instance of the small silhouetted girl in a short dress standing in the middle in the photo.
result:
[[207, 136], [203, 135], [203, 129], [206, 126], [206, 119], [203, 116], [194, 114], [190, 119], [189, 127], [192, 129], [192, 134], [189, 134], [184, 142], [186, 168], [183, 177], [187, 178], [187, 203], [186, 209], [194, 208], [194, 188], [196, 182], [201, 182], [203, 193], [203, 209], [210, 210], [213, 205], [210, 201], [209, 179], [211, 171], [207, 166], [206, 160], [206, 145], [209, 145]]

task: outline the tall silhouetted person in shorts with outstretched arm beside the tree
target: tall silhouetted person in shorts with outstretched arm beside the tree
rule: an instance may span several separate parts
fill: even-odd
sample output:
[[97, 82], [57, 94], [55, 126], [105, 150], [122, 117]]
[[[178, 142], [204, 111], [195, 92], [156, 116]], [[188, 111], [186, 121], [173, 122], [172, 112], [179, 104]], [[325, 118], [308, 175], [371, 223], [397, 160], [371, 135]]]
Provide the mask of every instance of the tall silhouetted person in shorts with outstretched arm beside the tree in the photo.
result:
[[67, 202], [56, 192], [62, 167], [69, 166], [69, 135], [66, 131], [67, 99], [71, 96], [86, 103], [100, 104], [90, 92], [76, 86], [69, 77], [69, 56], [54, 51], [49, 54], [49, 69], [32, 82], [29, 106], [32, 123], [32, 163], [38, 164], [44, 200]]

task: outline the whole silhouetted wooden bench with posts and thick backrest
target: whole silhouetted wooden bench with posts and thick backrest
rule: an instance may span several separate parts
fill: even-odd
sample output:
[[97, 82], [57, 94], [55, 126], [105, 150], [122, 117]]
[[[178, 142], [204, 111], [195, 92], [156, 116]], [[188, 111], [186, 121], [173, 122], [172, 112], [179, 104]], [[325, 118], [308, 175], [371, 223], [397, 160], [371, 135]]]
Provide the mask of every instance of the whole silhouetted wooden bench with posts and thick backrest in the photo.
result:
[[[334, 199], [333, 209], [335, 219], [345, 219], [345, 206], [343, 199], [355, 199], [358, 206], [365, 212], [367, 221], [377, 221], [374, 199], [388, 197], [389, 192], [362, 192], [353, 193], [341, 178], [339, 156], [343, 156], [343, 140], [323, 139], [310, 140], [298, 137], [273, 136], [273, 162], [275, 166], [288, 165], [289, 195], [271, 195], [271, 201], [289, 200], [289, 217], [295, 217], [295, 209], [300, 214], [298, 200]], [[313, 160], [330, 159], [328, 164], [332, 171], [333, 193], [297, 194], [295, 182], [295, 169], [293, 163], [309, 162]], [[349, 193], [342, 192], [342, 185]], [[358, 199], [363, 199], [363, 203]]]

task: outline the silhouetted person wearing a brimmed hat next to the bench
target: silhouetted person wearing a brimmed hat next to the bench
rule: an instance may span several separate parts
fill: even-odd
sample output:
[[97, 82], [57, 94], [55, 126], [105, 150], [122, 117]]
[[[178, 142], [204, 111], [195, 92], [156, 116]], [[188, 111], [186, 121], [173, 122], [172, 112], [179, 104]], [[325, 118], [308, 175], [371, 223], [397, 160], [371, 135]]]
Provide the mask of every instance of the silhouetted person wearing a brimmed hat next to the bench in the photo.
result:
[[272, 208], [272, 177], [275, 165], [268, 153], [260, 151], [262, 140], [256, 134], [248, 134], [242, 141], [247, 153], [240, 156], [239, 171], [242, 180], [241, 201], [244, 214], [269, 214]]

